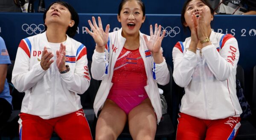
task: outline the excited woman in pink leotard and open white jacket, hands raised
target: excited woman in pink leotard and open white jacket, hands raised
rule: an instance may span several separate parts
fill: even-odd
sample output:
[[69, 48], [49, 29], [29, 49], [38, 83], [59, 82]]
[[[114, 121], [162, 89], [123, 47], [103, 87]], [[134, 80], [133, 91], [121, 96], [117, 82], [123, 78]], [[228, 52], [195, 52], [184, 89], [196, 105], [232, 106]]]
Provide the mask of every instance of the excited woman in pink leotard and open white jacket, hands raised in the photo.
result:
[[[161, 26], [150, 26], [150, 36], [142, 34], [145, 6], [141, 0], [122, 0], [117, 15], [122, 28], [108, 33], [98, 17], [89, 20], [96, 42], [92, 76], [102, 80], [94, 101], [98, 116], [96, 140], [116, 140], [126, 122], [134, 140], [154, 140], [162, 116], [157, 83], [169, 82], [169, 70], [162, 55]], [[100, 111], [100, 113], [98, 113]]]

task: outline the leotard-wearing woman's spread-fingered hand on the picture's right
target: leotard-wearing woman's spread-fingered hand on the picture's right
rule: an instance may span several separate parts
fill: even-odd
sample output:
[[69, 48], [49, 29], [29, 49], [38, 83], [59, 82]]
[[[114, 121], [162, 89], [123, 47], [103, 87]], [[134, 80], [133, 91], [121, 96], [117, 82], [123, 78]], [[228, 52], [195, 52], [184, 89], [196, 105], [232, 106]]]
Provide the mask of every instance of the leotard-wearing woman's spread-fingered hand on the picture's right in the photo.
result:
[[153, 34], [153, 27], [150, 25], [150, 40], [148, 40], [147, 36], [143, 36], [147, 45], [148, 50], [151, 51], [151, 53], [160, 53], [160, 48], [162, 44], [163, 37], [165, 35], [166, 31], [163, 31], [163, 34], [161, 34], [161, 25], [157, 28], [157, 24], [155, 24], [154, 34]]

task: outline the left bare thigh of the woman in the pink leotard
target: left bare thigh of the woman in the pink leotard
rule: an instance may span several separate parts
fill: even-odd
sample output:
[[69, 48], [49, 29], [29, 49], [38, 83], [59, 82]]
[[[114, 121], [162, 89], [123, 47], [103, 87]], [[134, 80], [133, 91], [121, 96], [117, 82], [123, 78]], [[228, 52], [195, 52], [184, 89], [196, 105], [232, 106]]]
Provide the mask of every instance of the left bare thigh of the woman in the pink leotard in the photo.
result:
[[127, 116], [113, 101], [107, 99], [96, 124], [96, 140], [116, 140], [124, 129]]

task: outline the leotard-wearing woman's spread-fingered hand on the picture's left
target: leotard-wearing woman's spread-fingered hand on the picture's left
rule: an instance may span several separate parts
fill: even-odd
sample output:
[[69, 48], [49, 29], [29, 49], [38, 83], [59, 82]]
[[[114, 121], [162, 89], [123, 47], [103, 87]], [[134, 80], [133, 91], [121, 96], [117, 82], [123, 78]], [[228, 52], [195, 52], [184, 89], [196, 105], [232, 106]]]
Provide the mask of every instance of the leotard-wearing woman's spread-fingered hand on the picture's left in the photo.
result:
[[86, 29], [87, 33], [93, 37], [93, 39], [96, 43], [96, 50], [99, 49], [99, 50], [104, 51], [105, 45], [108, 42], [109, 24], [106, 26], [106, 29], [104, 31], [102, 28], [102, 21], [101, 21], [100, 17], [98, 17], [99, 27], [96, 23], [95, 18], [92, 17], [92, 19], [93, 19], [93, 24], [90, 20], [88, 20], [88, 23], [93, 32], [91, 32], [88, 28], [85, 28], [85, 29]]

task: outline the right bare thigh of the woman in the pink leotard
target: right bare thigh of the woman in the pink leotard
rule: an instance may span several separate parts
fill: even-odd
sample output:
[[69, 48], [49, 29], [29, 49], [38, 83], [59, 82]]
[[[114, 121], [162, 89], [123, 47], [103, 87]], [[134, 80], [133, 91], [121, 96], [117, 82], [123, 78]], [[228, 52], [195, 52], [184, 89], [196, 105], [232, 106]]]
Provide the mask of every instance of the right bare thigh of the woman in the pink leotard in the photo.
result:
[[129, 112], [128, 123], [134, 140], [154, 140], [157, 118], [149, 98]]

